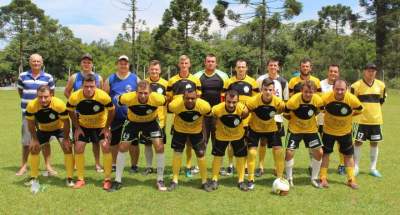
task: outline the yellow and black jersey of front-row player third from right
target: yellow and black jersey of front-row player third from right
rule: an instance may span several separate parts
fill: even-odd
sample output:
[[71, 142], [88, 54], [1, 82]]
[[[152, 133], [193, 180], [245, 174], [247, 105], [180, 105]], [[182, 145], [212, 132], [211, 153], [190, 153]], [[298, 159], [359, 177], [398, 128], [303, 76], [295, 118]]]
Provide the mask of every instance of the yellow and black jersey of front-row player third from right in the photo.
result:
[[279, 97], [273, 95], [270, 102], [262, 100], [262, 94], [250, 98], [246, 106], [252, 113], [249, 120], [250, 128], [255, 132], [274, 132], [278, 130], [275, 115], [285, 110], [285, 103]]

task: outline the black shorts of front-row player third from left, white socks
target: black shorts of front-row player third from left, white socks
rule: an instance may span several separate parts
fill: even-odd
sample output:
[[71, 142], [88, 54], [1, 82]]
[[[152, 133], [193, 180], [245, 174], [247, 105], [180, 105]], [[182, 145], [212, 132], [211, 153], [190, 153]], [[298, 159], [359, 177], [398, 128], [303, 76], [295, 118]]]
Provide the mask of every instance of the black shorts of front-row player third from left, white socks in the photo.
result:
[[160, 125], [156, 120], [151, 122], [129, 122], [124, 125], [121, 141], [138, 145], [146, 139], [162, 138]]

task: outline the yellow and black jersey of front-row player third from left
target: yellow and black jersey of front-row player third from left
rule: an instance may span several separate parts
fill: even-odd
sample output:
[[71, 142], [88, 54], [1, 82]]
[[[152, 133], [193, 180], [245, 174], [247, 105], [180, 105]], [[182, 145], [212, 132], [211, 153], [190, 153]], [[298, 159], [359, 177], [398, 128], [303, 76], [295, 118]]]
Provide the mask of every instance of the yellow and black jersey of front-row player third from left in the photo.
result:
[[118, 105], [128, 107], [128, 120], [131, 122], [151, 122], [158, 118], [158, 108], [165, 105], [165, 96], [151, 92], [146, 103], [140, 103], [136, 92], [124, 93]]

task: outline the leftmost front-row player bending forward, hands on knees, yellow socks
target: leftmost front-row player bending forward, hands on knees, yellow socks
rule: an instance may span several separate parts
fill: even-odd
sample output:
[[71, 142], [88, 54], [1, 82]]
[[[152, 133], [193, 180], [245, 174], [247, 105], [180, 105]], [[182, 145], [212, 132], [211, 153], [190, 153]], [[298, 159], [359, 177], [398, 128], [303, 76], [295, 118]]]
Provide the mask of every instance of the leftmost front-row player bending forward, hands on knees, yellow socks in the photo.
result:
[[[56, 137], [64, 152], [65, 169], [67, 171], [67, 186], [74, 186], [72, 181], [73, 156], [69, 142], [69, 117], [65, 103], [51, 95], [50, 88], [42, 85], [37, 89], [37, 98], [28, 103], [26, 119], [32, 136], [29, 144], [31, 180], [29, 184], [38, 183], [39, 176], [39, 152], [41, 146], [49, 144], [52, 136]], [[37, 124], [37, 128], [36, 128]]]

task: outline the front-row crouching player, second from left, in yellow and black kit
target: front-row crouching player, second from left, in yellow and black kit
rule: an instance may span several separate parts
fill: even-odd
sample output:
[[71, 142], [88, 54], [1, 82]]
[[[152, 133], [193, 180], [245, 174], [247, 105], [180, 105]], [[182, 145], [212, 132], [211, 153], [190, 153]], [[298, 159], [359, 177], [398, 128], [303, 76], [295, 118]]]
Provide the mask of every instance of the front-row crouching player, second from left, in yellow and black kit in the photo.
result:
[[[67, 109], [75, 127], [75, 164], [78, 180], [74, 188], [85, 186], [85, 146], [98, 143], [103, 151], [103, 189], [111, 187], [112, 155], [110, 150], [110, 125], [115, 112], [110, 96], [96, 87], [96, 76], [87, 74], [82, 89], [75, 91], [68, 99]], [[79, 117], [78, 117], [79, 114]]]

